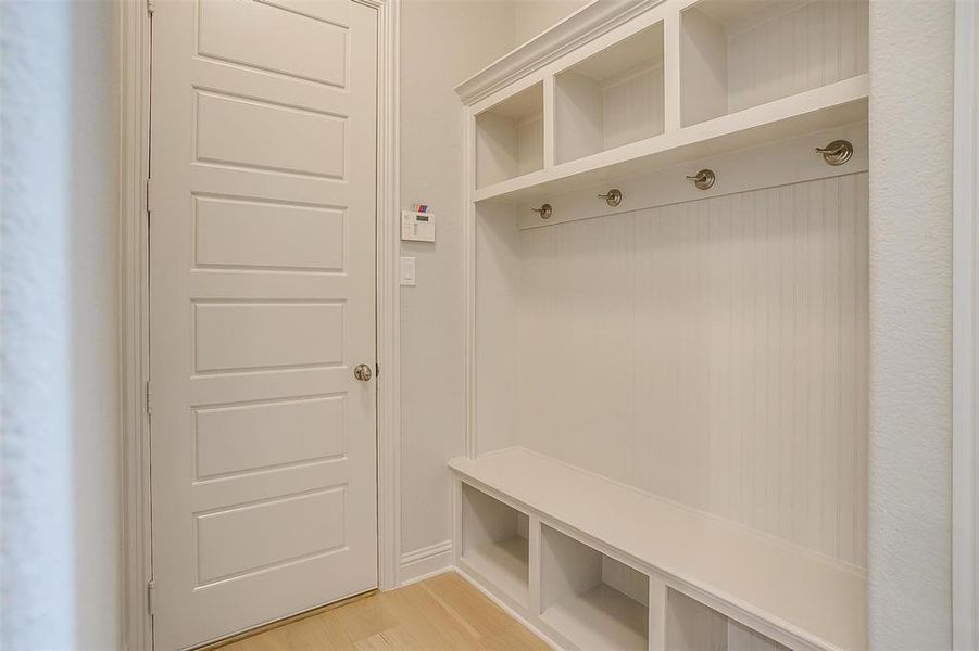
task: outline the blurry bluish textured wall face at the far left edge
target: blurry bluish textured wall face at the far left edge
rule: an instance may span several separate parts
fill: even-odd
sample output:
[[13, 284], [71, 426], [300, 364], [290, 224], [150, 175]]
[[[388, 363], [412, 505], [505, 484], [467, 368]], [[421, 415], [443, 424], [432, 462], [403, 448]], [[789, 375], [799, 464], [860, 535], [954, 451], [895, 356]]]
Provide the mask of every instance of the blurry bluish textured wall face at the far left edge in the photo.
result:
[[0, 647], [73, 646], [71, 138], [64, 3], [0, 4]]

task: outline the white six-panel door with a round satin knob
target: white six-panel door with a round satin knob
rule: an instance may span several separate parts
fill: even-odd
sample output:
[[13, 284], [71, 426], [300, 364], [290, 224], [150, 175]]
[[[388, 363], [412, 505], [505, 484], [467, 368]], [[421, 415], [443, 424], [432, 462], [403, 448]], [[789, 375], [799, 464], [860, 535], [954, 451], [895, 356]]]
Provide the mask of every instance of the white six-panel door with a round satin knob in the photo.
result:
[[154, 640], [377, 585], [376, 12], [153, 15]]

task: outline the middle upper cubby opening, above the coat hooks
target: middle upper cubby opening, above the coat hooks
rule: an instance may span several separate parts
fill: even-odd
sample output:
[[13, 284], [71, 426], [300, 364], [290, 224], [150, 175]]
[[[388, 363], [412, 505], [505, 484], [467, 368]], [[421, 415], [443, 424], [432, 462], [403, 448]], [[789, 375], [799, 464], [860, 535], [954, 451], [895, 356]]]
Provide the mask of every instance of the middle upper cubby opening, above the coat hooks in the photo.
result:
[[663, 132], [663, 23], [557, 75], [557, 163]]

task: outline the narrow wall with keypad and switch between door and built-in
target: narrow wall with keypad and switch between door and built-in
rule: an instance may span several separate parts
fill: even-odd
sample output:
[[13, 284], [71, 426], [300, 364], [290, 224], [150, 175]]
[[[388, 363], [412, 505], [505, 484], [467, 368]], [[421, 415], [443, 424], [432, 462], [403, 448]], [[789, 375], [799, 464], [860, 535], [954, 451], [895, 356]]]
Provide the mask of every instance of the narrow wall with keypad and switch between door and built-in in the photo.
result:
[[[401, 292], [401, 549], [452, 535], [445, 461], [465, 447], [462, 107], [454, 87], [510, 50], [511, 1], [401, 5], [401, 203], [431, 206], [437, 241], [402, 243], [417, 286]], [[444, 560], [448, 560], [448, 556]]]

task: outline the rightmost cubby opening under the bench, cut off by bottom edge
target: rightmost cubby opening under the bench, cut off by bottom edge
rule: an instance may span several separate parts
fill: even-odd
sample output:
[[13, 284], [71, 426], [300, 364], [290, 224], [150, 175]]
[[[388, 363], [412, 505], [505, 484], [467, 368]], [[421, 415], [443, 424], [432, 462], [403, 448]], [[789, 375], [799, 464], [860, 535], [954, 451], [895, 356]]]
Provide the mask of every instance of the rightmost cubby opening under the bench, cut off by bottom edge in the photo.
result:
[[790, 651], [674, 589], [667, 589], [666, 597], [666, 648], [670, 651]]

